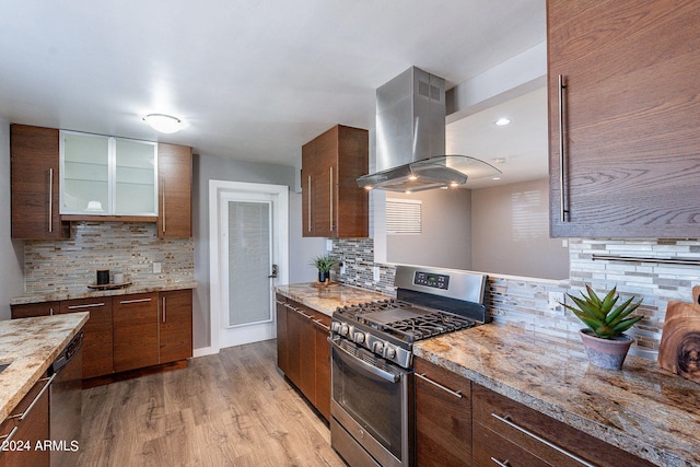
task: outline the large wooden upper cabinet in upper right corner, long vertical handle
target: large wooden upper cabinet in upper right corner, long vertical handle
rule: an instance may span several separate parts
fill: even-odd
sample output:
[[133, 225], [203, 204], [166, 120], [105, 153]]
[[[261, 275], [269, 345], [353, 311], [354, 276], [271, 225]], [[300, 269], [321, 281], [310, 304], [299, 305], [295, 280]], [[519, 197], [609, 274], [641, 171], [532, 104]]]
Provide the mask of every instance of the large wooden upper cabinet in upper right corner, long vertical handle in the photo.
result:
[[699, 15], [693, 0], [548, 1], [552, 236], [698, 236]]

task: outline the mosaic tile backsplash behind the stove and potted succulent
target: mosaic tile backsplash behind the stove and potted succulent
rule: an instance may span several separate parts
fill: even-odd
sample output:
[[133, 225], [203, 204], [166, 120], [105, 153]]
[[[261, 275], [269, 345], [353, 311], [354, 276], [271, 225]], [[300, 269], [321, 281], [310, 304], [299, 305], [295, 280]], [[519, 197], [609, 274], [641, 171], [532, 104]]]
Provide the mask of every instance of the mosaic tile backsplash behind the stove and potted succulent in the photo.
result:
[[[336, 271], [334, 280], [384, 293], [394, 292], [395, 267], [373, 262], [372, 240], [336, 240], [329, 254], [346, 265], [345, 273]], [[654, 261], [594, 260], [594, 254], [700, 259], [700, 241], [570, 240], [568, 280], [489, 275], [486, 301], [493, 319], [552, 336], [578, 338], [583, 325], [561, 305], [550, 310], [549, 292], [579, 295], [586, 283], [596, 291], [617, 287], [621, 300], [631, 295], [643, 299], [638, 313], [645, 317], [628, 331], [637, 339], [630, 353], [655, 360], [666, 305], [670, 300], [692, 301], [692, 287], [700, 284], [700, 268]], [[374, 266], [380, 268], [378, 282], [373, 281]]]

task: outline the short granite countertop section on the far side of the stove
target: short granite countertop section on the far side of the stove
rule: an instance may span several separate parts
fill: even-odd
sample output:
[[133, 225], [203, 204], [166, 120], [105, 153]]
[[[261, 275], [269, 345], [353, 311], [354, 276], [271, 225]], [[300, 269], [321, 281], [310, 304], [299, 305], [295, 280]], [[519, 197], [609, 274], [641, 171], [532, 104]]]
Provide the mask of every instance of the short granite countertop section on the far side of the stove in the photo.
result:
[[335, 312], [338, 306], [357, 305], [358, 303], [394, 297], [393, 295], [372, 292], [351, 285], [338, 284], [319, 287], [313, 282], [277, 285], [275, 291], [328, 316], [332, 315], [332, 312]]

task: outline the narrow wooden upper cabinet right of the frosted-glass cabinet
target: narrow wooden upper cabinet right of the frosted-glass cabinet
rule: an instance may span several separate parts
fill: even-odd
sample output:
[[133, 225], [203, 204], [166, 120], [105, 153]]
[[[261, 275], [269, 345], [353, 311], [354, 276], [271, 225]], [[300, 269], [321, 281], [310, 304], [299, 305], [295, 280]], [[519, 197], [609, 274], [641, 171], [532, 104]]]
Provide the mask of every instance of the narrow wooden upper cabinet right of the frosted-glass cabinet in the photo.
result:
[[158, 144], [158, 236], [192, 236], [192, 150], [185, 145]]

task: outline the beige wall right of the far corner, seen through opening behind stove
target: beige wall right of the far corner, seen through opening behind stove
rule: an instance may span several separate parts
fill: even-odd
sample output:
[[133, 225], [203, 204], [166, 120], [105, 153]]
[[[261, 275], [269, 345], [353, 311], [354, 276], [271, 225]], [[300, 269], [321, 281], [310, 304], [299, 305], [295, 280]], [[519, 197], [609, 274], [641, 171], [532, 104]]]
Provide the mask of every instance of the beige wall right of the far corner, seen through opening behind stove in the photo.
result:
[[471, 268], [569, 278], [569, 248], [549, 237], [549, 179], [471, 190]]

